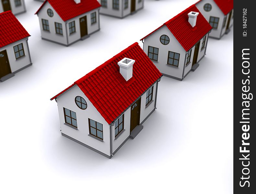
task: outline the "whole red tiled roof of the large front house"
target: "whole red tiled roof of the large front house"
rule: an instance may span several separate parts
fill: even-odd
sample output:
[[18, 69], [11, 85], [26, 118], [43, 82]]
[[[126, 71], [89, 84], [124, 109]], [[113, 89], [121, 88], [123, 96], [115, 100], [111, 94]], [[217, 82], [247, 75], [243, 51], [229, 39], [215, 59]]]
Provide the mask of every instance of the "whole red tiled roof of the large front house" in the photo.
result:
[[[125, 57], [135, 60], [133, 77], [128, 81], [120, 74], [117, 64]], [[77, 80], [51, 100], [77, 85], [107, 123], [111, 124], [161, 76], [162, 74], [136, 42]]]

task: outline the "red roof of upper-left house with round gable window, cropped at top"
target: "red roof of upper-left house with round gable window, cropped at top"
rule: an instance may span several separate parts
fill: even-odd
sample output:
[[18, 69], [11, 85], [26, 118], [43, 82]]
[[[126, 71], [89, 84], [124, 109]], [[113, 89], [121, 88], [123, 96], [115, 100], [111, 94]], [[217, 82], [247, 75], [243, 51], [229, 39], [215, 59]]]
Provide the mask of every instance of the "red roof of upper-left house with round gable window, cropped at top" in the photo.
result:
[[67, 21], [100, 7], [97, 0], [81, 0], [81, 3], [79, 4], [76, 4], [74, 0], [45, 0], [35, 14], [38, 14], [47, 1], [52, 5], [52, 8], [58, 13], [63, 21]]

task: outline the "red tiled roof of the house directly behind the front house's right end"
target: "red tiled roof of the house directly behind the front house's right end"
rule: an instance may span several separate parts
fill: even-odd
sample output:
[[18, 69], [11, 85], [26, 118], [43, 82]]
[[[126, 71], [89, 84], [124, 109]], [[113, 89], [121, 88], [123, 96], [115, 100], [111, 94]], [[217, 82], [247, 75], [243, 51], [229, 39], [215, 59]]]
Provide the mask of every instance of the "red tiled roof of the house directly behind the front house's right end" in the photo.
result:
[[[189, 12], [199, 12], [196, 19], [196, 26], [192, 27], [188, 22]], [[199, 40], [201, 40], [212, 27], [201, 14], [201, 12], [196, 8], [195, 5], [191, 5], [189, 8], [182, 11], [177, 16], [170, 19], [168, 22], [164, 23], [162, 26], [158, 27], [156, 30], [142, 38], [141, 40], [147, 38], [149, 35], [166, 26], [171, 31], [173, 36], [179, 41], [181, 46], [189, 51]]]

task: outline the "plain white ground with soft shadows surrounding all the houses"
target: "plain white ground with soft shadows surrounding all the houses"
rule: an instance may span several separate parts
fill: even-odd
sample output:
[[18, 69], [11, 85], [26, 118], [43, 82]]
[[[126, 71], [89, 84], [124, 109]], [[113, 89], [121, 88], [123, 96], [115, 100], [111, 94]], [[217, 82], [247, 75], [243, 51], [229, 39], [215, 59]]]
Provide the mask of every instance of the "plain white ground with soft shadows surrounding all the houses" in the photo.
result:
[[[41, 40], [41, 2], [18, 20], [31, 34], [33, 65], [0, 83], [0, 193], [233, 193], [233, 28], [209, 39], [199, 68], [163, 77], [157, 110], [107, 159], [60, 133], [50, 98], [196, 1], [145, 0], [69, 47]], [[142, 43], [140, 42], [142, 46]]]

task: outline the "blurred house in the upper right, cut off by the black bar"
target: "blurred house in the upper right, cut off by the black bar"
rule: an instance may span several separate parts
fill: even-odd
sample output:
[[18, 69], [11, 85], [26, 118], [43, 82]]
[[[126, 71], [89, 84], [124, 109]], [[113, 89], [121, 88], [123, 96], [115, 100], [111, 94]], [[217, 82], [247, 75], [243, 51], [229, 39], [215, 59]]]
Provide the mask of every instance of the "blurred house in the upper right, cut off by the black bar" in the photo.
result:
[[233, 0], [200, 0], [196, 7], [213, 27], [209, 37], [220, 39], [233, 26]]

